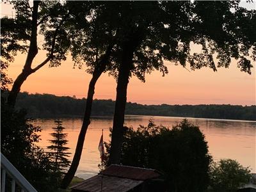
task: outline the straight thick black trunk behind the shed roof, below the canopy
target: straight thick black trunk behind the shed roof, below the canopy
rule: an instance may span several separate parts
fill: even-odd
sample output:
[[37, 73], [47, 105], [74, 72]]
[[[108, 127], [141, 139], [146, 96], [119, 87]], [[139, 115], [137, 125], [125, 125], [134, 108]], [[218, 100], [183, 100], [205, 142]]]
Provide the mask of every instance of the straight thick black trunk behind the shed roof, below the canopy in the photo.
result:
[[132, 68], [133, 52], [133, 46], [129, 44], [124, 45], [122, 63], [120, 63], [116, 86], [116, 103], [111, 137], [111, 148], [109, 154], [109, 164], [120, 164], [125, 105], [127, 100], [127, 85], [129, 83], [129, 74]]

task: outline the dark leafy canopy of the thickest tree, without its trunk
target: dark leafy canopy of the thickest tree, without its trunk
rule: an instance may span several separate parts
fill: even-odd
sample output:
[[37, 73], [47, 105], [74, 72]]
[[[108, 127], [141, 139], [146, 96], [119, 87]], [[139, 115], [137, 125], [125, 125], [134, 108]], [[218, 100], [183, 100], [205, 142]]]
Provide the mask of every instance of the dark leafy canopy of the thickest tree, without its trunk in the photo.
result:
[[[241, 71], [251, 73], [252, 61], [256, 59], [256, 10], [240, 7], [239, 1], [99, 4], [105, 10], [101, 14], [106, 15], [106, 22], [116, 25], [118, 31], [119, 48], [111, 72], [114, 76], [122, 59], [118, 50], [132, 33], [140, 36], [141, 43], [134, 52], [131, 74], [141, 81], [145, 81], [145, 73], [154, 69], [165, 74], [164, 60], [184, 67], [189, 64], [192, 70], [210, 67], [216, 71], [218, 67], [227, 68], [231, 58], [235, 58]], [[111, 19], [107, 16], [109, 10]], [[201, 51], [193, 51], [193, 45], [200, 45]]]

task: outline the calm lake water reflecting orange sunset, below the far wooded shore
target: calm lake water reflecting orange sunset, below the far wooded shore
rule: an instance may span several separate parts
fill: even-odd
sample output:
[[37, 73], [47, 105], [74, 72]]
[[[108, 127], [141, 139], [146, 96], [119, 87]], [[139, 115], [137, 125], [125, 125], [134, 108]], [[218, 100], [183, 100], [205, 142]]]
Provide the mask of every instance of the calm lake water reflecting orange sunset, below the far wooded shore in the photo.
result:
[[[134, 128], [138, 125], [147, 125], [152, 118], [157, 125], [172, 127], [183, 118], [166, 116], [125, 116], [125, 124]], [[61, 118], [65, 132], [68, 133], [67, 140], [70, 147], [71, 157], [76, 148], [77, 137], [82, 125], [81, 118]], [[256, 172], [255, 136], [256, 122], [239, 120], [214, 120], [204, 118], [188, 118], [190, 122], [200, 127], [205, 134], [209, 145], [209, 152], [214, 160], [229, 158], [236, 159], [243, 166], [250, 166], [252, 172]], [[99, 140], [102, 129], [104, 129], [104, 141], [109, 141], [109, 127], [112, 126], [111, 117], [93, 117], [86, 133], [83, 154], [76, 175], [87, 179], [99, 172], [100, 154], [98, 151]], [[38, 143], [46, 148], [50, 145], [50, 133], [54, 127], [54, 119], [39, 119], [35, 125], [42, 127], [41, 141]], [[70, 157], [70, 159], [71, 159]]]

